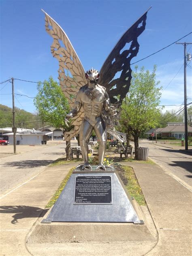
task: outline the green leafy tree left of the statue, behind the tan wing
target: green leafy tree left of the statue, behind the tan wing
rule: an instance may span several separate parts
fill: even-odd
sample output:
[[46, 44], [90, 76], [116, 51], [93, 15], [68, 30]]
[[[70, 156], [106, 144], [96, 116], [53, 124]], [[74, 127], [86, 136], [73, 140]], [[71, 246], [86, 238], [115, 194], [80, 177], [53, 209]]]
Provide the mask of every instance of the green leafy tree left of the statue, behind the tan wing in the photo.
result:
[[[49, 122], [54, 128], [68, 131], [65, 124], [66, 114], [69, 112], [68, 100], [64, 96], [61, 87], [52, 77], [39, 82], [38, 93], [34, 98], [34, 105], [43, 122]], [[66, 158], [70, 159], [70, 141], [66, 141]]]

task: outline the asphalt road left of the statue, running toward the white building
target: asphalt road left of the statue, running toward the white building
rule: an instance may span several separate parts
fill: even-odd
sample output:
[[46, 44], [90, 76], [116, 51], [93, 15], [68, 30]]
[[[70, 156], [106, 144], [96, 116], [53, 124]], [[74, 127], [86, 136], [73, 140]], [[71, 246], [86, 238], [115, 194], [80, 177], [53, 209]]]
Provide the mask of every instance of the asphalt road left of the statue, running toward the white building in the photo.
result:
[[[34, 175], [40, 173], [48, 164], [65, 155], [65, 142], [39, 145], [36, 147], [21, 146], [22, 154], [3, 153], [10, 151], [11, 145], [2, 146], [0, 159], [0, 194], [19, 186]], [[8, 148], [9, 147], [9, 148]], [[13, 146], [12, 146], [13, 147]], [[17, 151], [20, 149], [18, 147]]]

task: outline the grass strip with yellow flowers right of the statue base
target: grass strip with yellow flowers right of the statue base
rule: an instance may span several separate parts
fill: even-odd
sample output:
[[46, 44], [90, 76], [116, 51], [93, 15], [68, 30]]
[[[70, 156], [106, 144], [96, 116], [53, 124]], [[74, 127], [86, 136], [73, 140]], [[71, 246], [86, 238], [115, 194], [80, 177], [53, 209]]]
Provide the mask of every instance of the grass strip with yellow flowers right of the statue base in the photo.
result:
[[145, 198], [134, 170], [130, 166], [121, 166], [117, 168], [119, 176], [121, 177], [124, 185], [126, 186], [129, 194], [134, 197], [139, 205], [146, 205]]

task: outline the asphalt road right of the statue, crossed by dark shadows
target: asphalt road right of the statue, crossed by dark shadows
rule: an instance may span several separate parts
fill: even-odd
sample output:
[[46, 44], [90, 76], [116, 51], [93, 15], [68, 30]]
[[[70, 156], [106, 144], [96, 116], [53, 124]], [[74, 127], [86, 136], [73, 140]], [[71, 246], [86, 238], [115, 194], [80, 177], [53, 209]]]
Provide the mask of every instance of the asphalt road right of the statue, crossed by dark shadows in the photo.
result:
[[[164, 171], [172, 173], [173, 177], [184, 181], [192, 186], [192, 155], [179, 148], [168, 148], [165, 145], [160, 146], [151, 144], [151, 141], [139, 141], [140, 147], [149, 148], [149, 158], [156, 162]], [[170, 146], [171, 147], [171, 146]], [[174, 147], [174, 146], [173, 146]]]

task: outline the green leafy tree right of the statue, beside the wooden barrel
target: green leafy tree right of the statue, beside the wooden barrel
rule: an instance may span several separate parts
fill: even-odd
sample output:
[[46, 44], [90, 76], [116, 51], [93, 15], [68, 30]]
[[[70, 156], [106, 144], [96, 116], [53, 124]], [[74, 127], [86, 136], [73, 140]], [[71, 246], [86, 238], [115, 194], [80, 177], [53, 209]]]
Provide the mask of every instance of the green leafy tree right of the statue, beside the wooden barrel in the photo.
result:
[[161, 87], [158, 87], [155, 72], [156, 66], [151, 74], [144, 67], [138, 71], [136, 66], [135, 72], [132, 72], [130, 90], [122, 102], [120, 124], [127, 138], [130, 134], [134, 138], [135, 159], [138, 159], [140, 134], [147, 127], [155, 128], [160, 116], [158, 105]]

